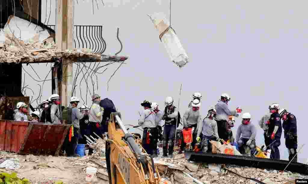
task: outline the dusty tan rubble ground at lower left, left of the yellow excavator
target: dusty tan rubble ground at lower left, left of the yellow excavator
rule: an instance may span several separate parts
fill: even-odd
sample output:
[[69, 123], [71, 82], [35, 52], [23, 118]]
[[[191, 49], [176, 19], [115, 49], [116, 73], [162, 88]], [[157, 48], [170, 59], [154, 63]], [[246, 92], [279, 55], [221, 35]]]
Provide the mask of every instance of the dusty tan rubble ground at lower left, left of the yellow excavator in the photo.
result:
[[[18, 155], [0, 152], [0, 164], [7, 159], [17, 159], [20, 168], [0, 168], [0, 172], [16, 172], [19, 178], [27, 178], [33, 184], [52, 184], [61, 180], [67, 184], [85, 183], [86, 168], [96, 167], [98, 171], [106, 171], [105, 158], [96, 153], [84, 157]], [[98, 184], [108, 182], [98, 178]]]

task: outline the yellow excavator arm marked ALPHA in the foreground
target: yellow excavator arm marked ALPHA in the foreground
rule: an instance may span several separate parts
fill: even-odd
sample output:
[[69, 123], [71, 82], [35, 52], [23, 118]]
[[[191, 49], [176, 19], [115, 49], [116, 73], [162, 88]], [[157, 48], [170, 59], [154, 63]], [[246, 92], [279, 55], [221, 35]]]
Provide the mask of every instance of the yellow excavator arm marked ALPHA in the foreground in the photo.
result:
[[111, 113], [106, 141], [109, 184], [158, 184], [154, 160], [130, 134], [119, 112]]

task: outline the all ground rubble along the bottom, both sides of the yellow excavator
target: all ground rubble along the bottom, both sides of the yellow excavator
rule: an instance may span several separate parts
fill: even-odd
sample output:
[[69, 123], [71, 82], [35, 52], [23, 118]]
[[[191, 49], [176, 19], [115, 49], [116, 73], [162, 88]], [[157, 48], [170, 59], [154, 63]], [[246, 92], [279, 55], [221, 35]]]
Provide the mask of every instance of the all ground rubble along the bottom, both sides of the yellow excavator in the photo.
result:
[[[0, 168], [0, 172], [14, 171], [19, 178], [27, 178], [34, 184], [55, 183], [57, 180], [64, 183], [85, 183], [86, 168], [95, 167], [98, 170], [98, 183], [108, 183], [106, 158], [102, 152], [104, 146], [103, 141], [99, 140], [95, 149], [97, 152], [83, 157], [18, 155], [1, 151], [0, 167], [3, 167], [5, 162], [14, 164]], [[184, 154], [176, 154], [174, 159], [154, 158], [154, 163], [162, 178], [161, 184], [257, 183], [246, 178], [254, 178], [266, 184], [291, 184], [298, 178], [308, 179], [307, 175], [289, 171], [195, 163], [186, 160]]]

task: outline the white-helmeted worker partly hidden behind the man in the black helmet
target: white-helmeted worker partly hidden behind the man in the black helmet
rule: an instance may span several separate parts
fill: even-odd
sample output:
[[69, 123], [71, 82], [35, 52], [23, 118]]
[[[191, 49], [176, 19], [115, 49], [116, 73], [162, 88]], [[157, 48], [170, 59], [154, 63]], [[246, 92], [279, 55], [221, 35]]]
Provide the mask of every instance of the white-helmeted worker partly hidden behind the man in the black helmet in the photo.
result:
[[153, 157], [157, 157], [157, 154], [159, 154], [159, 149], [158, 149], [158, 153], [157, 153], [157, 142], [158, 142], [158, 140], [160, 140], [160, 141], [163, 140], [163, 135], [162, 135], [163, 129], [162, 129], [162, 127], [163, 127], [163, 124], [164, 124], [164, 120], [162, 120], [163, 112], [161, 112], [158, 109], [158, 104], [156, 102], [153, 102], [151, 107], [152, 107], [152, 111], [154, 111], [154, 113], [155, 113], [155, 119], [156, 119], [155, 122], [156, 122], [156, 125], [157, 125], [157, 132], [158, 132], [156, 143], [154, 143], [156, 145], [156, 152], [155, 153], [153, 152]]

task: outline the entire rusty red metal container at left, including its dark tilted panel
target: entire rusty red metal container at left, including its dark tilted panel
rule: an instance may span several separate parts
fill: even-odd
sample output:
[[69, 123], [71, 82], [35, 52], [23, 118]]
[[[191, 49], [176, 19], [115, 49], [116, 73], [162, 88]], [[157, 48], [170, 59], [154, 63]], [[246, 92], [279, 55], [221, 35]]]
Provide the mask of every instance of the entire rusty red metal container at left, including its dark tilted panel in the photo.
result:
[[0, 120], [0, 151], [59, 155], [70, 125]]

